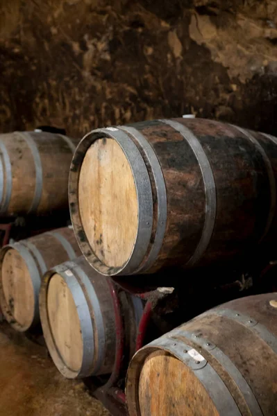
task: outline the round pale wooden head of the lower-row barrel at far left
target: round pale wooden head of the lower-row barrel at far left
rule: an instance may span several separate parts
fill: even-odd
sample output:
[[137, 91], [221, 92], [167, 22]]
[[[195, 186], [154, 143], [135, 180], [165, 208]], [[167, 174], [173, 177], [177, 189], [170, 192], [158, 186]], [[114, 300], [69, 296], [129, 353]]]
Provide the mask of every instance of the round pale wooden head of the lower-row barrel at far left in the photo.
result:
[[1, 279], [8, 321], [30, 327], [35, 311], [33, 283], [24, 258], [14, 248], [3, 257]]

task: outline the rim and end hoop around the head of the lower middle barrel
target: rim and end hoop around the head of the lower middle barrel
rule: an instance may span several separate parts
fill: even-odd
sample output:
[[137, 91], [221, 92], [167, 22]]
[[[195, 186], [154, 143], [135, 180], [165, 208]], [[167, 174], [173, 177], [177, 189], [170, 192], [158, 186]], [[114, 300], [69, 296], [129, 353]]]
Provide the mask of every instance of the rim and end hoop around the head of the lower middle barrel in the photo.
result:
[[[83, 288], [81, 287], [81, 284], [72, 272], [72, 264], [74, 264], [74, 268], [78, 266], [78, 264], [76, 264], [74, 261], [65, 261], [65, 263], [61, 263], [60, 265], [51, 268], [46, 273], [44, 273], [40, 288], [39, 307], [42, 331], [44, 333], [45, 343], [47, 344], [47, 348], [49, 350], [49, 354], [51, 355], [53, 363], [56, 365], [60, 373], [67, 379], [78, 379], [92, 375], [91, 369], [94, 361], [94, 329], [90, 320], [90, 311], [87, 305], [87, 300], [83, 293]], [[71, 272], [70, 276], [66, 274], [67, 271]], [[83, 343], [82, 363], [81, 367], [78, 370], [72, 370], [71, 368], [69, 368], [69, 366], [65, 363], [62, 356], [58, 352], [58, 347], [55, 343], [55, 339], [53, 337], [51, 325], [49, 322], [49, 315], [47, 309], [48, 287], [51, 277], [53, 277], [53, 275], [57, 273], [62, 277], [62, 279], [65, 280], [67, 288], [71, 292], [72, 297], [74, 299], [74, 304], [78, 304], [78, 308], [76, 307], [76, 311], [78, 313], [78, 318], [81, 326], [81, 336]], [[78, 286], [81, 289], [81, 293], [83, 295], [83, 302], [78, 302], [78, 300], [76, 299], [76, 293], [72, 291], [70, 281], [72, 281], [72, 286], [75, 285], [75, 287]], [[87, 309], [87, 311], [84, 312], [84, 308]], [[87, 317], [87, 320], [85, 320], [85, 317]]]

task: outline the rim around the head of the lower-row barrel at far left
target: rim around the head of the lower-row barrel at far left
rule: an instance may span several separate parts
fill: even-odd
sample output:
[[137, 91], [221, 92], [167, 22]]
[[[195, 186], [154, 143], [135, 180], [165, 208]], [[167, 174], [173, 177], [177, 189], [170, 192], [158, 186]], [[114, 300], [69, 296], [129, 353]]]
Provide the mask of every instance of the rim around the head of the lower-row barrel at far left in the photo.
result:
[[[11, 248], [19, 252], [20, 256], [24, 259], [27, 266], [28, 266], [28, 263], [30, 262], [33, 263], [32, 266], [34, 270], [32, 274], [30, 272], [30, 278], [31, 278], [32, 286], [33, 286], [34, 311], [33, 311], [31, 324], [27, 324], [27, 325], [22, 325], [22, 324], [19, 324], [19, 322], [15, 321], [14, 316], [10, 312], [10, 308], [8, 306], [8, 303], [6, 302], [6, 298], [3, 292], [3, 281], [2, 281], [3, 258], [5, 257], [5, 254], [8, 252], [8, 250], [10, 250]], [[16, 331], [25, 332], [28, 329], [35, 327], [40, 322], [40, 313], [39, 313], [38, 302], [37, 302], [37, 295], [38, 295], [39, 290], [40, 290], [40, 271], [37, 267], [37, 264], [35, 263], [35, 259], [33, 259], [31, 253], [28, 251], [28, 248], [26, 248], [26, 246], [22, 245], [20, 242], [8, 244], [8, 245], [5, 245], [3, 248], [1, 248], [0, 250], [0, 306], [1, 306], [1, 311], [3, 312], [3, 315], [5, 316], [6, 320], [8, 321], [10, 326], [13, 327]]]

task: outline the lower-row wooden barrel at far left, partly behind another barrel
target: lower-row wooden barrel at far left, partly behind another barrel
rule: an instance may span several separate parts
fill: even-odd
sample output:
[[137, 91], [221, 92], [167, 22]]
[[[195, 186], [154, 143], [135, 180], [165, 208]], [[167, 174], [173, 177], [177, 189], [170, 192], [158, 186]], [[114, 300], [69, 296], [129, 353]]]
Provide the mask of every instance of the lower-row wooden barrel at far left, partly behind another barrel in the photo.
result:
[[5, 245], [0, 251], [0, 306], [6, 320], [26, 331], [40, 322], [38, 295], [44, 273], [80, 255], [68, 227]]

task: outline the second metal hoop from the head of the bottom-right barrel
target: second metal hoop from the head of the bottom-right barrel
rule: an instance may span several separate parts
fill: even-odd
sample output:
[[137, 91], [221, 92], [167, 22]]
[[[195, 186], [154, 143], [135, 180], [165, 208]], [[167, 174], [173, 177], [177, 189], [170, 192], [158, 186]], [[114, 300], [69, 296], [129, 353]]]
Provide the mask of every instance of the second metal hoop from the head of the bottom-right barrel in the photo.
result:
[[202, 349], [205, 349], [205, 351], [213, 356], [237, 385], [237, 388], [242, 393], [242, 396], [244, 397], [244, 400], [249, 407], [251, 415], [263, 415], [260, 405], [258, 404], [258, 401], [255, 398], [249, 383], [247, 383], [247, 381], [244, 379], [244, 376], [242, 376], [241, 372], [237, 369], [235, 364], [230, 361], [230, 358], [226, 356], [226, 354], [224, 354], [224, 352], [221, 351], [217, 345], [203, 338], [201, 335], [199, 335], [199, 333], [192, 333], [190, 331], [185, 331], [184, 329], [176, 329], [174, 331], [174, 336], [182, 336], [188, 340], [192, 340], [193, 343], [199, 345]]

